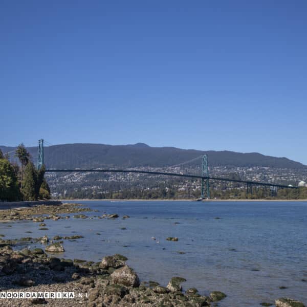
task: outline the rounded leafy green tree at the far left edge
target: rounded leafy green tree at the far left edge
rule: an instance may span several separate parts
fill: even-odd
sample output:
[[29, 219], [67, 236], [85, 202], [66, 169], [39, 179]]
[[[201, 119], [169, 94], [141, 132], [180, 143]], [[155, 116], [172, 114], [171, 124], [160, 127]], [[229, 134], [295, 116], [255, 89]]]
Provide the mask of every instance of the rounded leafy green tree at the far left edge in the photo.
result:
[[0, 200], [17, 201], [20, 199], [19, 187], [14, 168], [6, 159], [0, 159]]

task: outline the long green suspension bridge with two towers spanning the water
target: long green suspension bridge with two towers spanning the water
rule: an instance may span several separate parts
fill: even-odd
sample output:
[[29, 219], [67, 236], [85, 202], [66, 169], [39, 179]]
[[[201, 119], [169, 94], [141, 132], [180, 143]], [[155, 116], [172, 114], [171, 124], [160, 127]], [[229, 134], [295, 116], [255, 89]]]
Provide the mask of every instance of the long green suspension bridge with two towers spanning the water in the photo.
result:
[[[37, 168], [40, 169], [44, 164], [44, 153], [43, 153], [44, 140], [38, 141], [38, 155], [37, 155]], [[194, 158], [193, 160], [199, 159], [200, 157]], [[191, 162], [191, 161], [187, 161]], [[183, 164], [187, 163], [184, 162]], [[176, 165], [174, 165], [176, 166]], [[271, 192], [277, 193], [278, 188], [288, 188], [288, 189], [297, 189], [298, 187], [287, 186], [281, 184], [272, 184], [267, 182], [258, 182], [258, 181], [247, 181], [247, 180], [236, 180], [223, 177], [212, 177], [209, 176], [208, 170], [208, 157], [207, 155], [202, 156], [202, 173], [201, 175], [197, 174], [183, 174], [183, 173], [174, 173], [174, 172], [162, 172], [162, 171], [147, 171], [147, 170], [135, 170], [135, 169], [46, 169], [46, 172], [116, 172], [116, 173], [142, 173], [150, 175], [159, 175], [159, 176], [171, 176], [171, 177], [181, 177], [181, 178], [194, 178], [201, 180], [201, 198], [210, 199], [210, 190], [209, 190], [209, 181], [222, 181], [222, 182], [236, 182], [246, 184], [247, 192], [252, 193], [252, 187], [270, 187]]]

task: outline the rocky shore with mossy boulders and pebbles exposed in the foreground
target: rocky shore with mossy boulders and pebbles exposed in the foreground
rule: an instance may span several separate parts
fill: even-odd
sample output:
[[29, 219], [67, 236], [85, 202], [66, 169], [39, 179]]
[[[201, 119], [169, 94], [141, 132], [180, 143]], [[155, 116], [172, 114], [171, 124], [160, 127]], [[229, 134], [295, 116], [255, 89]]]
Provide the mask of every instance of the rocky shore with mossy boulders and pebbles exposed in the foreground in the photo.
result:
[[[89, 218], [86, 212], [91, 210], [80, 204], [34, 205], [14, 209], [0, 209], [1, 222], [32, 221], [38, 226], [46, 226], [45, 220], [58, 221], [72, 218]], [[68, 215], [72, 213], [73, 216]], [[115, 220], [117, 213], [102, 214], [98, 218]], [[128, 215], [122, 216], [129, 218]], [[14, 224], [11, 224], [13, 226]], [[42, 228], [43, 229], [43, 228]], [[217, 306], [216, 302], [227, 294], [220, 291], [209, 291], [201, 295], [195, 288], [183, 292], [184, 277], [174, 276], [166, 287], [156, 281], [140, 281], [137, 273], [126, 265], [125, 256], [120, 254], [104, 256], [101, 261], [93, 262], [84, 259], [65, 259], [61, 253], [65, 248], [65, 240], [76, 241], [82, 235], [65, 237], [56, 235], [49, 238], [24, 237], [5, 239], [0, 237], [0, 287], [2, 292], [73, 292], [74, 299], [2, 299], [6, 306], [29, 306], [32, 304], [48, 304], [49, 306], [76, 306], [77, 304], [119, 307], [201, 307]], [[177, 238], [166, 238], [176, 240]], [[30, 243], [41, 243], [41, 248], [30, 249], [23, 246]], [[16, 249], [17, 248], [17, 249]], [[176, 272], [174, 272], [176, 275]], [[83, 296], [78, 297], [81, 293]], [[259, 302], [269, 306], [273, 302]], [[277, 307], [304, 307], [304, 304], [290, 298], [275, 300]]]

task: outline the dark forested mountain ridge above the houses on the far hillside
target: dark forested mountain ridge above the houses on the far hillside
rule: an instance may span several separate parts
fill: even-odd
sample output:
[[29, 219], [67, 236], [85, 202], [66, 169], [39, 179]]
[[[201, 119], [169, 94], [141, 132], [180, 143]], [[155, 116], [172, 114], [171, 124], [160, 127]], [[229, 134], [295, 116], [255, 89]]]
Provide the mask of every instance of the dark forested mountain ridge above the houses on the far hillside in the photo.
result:
[[[16, 147], [0, 146], [3, 153]], [[37, 147], [28, 148], [34, 162], [37, 159]], [[133, 145], [105, 144], [62, 144], [46, 146], [44, 150], [47, 168], [127, 168], [137, 166], [166, 167], [193, 160], [207, 153], [209, 166], [234, 167], [276, 167], [288, 169], [307, 169], [306, 165], [288, 158], [261, 155], [257, 152], [202, 151], [180, 149], [176, 147], [150, 147], [144, 143]], [[10, 153], [14, 160], [14, 152]], [[200, 165], [200, 159], [191, 161], [191, 165]]]

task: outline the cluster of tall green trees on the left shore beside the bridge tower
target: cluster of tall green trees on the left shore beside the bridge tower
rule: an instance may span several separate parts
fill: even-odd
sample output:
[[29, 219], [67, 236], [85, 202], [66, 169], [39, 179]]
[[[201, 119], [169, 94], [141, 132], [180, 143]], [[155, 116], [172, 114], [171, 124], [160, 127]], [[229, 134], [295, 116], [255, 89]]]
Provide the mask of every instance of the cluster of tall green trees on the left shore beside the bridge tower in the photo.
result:
[[45, 180], [45, 166], [37, 170], [30, 160], [30, 154], [23, 144], [15, 150], [17, 163], [11, 163], [9, 156], [0, 149], [0, 201], [35, 201], [50, 199], [50, 189]]

